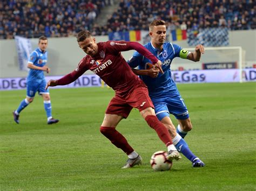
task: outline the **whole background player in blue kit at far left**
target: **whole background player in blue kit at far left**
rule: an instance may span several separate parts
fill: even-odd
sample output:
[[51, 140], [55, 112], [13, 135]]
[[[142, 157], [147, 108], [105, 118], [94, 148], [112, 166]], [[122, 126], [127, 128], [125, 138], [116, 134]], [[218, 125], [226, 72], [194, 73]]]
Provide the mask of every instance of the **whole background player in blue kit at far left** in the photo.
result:
[[26, 79], [26, 98], [19, 104], [12, 114], [14, 115], [14, 121], [19, 124], [19, 113], [33, 101], [36, 92], [42, 95], [44, 100], [44, 109], [47, 116], [47, 123], [57, 123], [59, 120], [52, 118], [51, 115], [51, 101], [49, 90], [45, 90], [46, 81], [44, 72], [49, 73], [50, 68], [46, 66], [48, 39], [44, 36], [39, 37], [38, 48], [35, 49], [30, 55], [28, 61], [29, 74]]

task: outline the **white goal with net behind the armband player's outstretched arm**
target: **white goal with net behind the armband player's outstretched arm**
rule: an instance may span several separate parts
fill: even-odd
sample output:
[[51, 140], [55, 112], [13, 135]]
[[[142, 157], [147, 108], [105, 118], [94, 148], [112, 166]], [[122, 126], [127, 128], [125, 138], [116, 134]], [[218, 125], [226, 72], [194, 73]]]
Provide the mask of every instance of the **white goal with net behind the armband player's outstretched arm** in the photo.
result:
[[[194, 51], [194, 48], [183, 48]], [[207, 68], [211, 66], [212, 68]], [[214, 68], [214, 66], [216, 68]], [[205, 68], [206, 67], [206, 68]], [[219, 67], [219, 68], [218, 68]], [[226, 68], [225, 68], [226, 67]], [[200, 69], [239, 69], [239, 82], [243, 81], [243, 69], [245, 68], [245, 51], [240, 46], [231, 47], [205, 47], [205, 53], [199, 62], [174, 59], [172, 70], [200, 70]]]

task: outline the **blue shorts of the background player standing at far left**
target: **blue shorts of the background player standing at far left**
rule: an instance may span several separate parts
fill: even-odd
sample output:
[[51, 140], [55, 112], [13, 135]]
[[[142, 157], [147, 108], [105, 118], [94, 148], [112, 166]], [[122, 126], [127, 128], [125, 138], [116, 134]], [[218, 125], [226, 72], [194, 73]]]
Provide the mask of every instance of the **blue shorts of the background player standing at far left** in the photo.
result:
[[45, 90], [46, 81], [38, 82], [27, 82], [26, 83], [26, 96], [35, 97], [36, 92], [38, 94], [49, 94], [49, 89]]

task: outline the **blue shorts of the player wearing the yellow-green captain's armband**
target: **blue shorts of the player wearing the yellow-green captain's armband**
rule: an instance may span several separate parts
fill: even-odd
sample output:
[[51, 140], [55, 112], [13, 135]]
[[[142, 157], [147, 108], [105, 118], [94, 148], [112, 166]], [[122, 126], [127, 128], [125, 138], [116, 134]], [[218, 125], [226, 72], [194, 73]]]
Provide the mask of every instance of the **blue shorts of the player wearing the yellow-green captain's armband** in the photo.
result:
[[190, 117], [184, 100], [180, 95], [166, 95], [164, 98], [154, 98], [152, 101], [159, 121], [166, 116], [169, 117], [170, 114], [174, 115], [176, 119], [187, 119]]

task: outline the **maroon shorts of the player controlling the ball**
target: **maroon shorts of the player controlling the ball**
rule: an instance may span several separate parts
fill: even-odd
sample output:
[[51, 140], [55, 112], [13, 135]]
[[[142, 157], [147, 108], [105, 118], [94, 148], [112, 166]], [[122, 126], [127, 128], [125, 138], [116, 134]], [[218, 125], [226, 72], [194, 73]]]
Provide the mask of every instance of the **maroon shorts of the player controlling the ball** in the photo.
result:
[[154, 108], [149, 97], [149, 91], [145, 86], [134, 87], [131, 94], [126, 96], [116, 94], [110, 101], [106, 114], [115, 114], [127, 118], [132, 108], [137, 108], [139, 111], [143, 111], [146, 108]]

